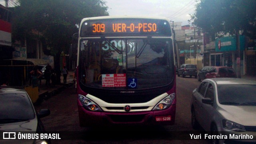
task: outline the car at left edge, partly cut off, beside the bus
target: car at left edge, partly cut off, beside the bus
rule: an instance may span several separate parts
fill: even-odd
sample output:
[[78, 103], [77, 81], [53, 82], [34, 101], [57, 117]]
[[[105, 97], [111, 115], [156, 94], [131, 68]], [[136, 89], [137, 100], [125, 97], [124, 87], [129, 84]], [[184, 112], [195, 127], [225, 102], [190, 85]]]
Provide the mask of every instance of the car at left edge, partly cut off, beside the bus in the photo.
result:
[[[50, 114], [49, 109], [36, 112], [30, 96], [22, 87], [0, 86], [0, 131], [2, 132], [44, 132], [40, 120]], [[18, 133], [16, 135], [18, 138]], [[0, 143], [20, 143], [7, 140]], [[26, 144], [49, 144], [50, 140], [22, 140]]]

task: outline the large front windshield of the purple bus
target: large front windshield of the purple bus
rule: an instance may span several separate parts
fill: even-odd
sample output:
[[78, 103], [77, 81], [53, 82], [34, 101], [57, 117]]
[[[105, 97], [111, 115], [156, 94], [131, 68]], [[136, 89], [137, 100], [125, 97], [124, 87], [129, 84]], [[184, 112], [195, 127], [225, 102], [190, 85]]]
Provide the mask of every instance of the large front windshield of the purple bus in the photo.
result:
[[126, 90], [166, 86], [174, 78], [170, 38], [81, 39], [80, 82]]

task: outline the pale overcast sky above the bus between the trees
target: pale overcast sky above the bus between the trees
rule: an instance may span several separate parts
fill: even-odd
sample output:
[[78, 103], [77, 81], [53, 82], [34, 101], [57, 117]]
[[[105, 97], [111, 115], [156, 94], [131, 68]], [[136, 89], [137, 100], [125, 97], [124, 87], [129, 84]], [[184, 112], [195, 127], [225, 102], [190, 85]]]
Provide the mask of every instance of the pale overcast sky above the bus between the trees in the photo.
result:
[[[161, 16], [174, 22], [189, 24], [196, 0], [103, 0], [110, 16]], [[4, 0], [0, 4], [5, 6]]]

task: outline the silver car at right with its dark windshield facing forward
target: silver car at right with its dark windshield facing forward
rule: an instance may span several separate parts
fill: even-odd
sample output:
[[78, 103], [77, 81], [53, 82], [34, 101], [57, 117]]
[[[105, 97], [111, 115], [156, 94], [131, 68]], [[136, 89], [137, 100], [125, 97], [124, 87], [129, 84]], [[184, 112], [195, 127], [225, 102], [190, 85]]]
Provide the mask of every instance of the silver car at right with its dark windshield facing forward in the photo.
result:
[[[213, 144], [256, 143], [256, 81], [203, 80], [193, 91], [191, 114], [193, 128], [202, 126], [207, 133], [227, 136], [222, 140], [213, 138]], [[236, 134], [240, 136], [238, 139]]]

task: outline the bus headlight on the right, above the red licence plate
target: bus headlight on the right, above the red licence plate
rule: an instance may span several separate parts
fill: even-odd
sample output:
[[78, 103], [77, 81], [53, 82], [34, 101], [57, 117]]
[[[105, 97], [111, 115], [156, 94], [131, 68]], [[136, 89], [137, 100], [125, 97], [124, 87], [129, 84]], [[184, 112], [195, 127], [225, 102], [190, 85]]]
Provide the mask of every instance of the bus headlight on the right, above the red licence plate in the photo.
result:
[[158, 102], [158, 104], [156, 104], [153, 110], [164, 110], [166, 108], [169, 108], [174, 98], [175, 98], [175, 93], [170, 94], [169, 96], [167, 96], [166, 98]]

